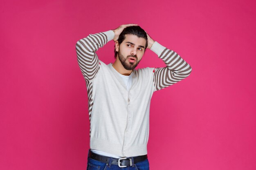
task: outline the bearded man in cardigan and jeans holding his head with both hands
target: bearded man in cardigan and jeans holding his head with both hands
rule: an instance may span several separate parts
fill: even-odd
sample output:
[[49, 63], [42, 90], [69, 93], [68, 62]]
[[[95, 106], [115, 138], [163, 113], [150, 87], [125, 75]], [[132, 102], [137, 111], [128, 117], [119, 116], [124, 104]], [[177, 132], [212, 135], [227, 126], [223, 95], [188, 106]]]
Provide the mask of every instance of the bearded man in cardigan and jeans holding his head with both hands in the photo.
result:
[[[95, 52], [110, 40], [115, 42], [116, 60], [107, 65]], [[136, 70], [146, 49], [166, 67]], [[153, 92], [188, 77], [191, 66], [137, 24], [90, 34], [76, 43], [76, 53], [88, 93], [88, 169], [149, 169], [150, 99]]]

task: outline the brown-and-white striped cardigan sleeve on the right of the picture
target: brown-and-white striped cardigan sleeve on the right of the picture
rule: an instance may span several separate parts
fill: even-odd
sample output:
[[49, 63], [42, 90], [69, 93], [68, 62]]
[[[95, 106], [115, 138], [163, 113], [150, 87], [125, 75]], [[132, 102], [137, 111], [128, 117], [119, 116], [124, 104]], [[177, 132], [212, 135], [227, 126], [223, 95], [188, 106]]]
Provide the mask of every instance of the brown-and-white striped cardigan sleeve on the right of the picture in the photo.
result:
[[153, 71], [154, 91], [171, 86], [190, 75], [192, 71], [191, 66], [176, 52], [167, 49], [156, 41], [150, 50], [156, 53], [166, 64], [166, 67], [155, 68]]

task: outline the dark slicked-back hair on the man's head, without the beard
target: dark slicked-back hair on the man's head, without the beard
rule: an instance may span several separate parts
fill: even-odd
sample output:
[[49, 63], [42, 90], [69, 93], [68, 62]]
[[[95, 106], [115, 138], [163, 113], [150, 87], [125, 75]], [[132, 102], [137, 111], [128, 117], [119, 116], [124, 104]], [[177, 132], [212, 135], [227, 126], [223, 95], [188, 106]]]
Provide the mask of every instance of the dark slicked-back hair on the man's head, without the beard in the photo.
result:
[[[127, 26], [119, 35], [118, 37], [118, 43], [121, 44], [124, 39], [125, 39], [125, 35], [126, 34], [132, 34], [132, 35], [136, 35], [139, 38], [144, 38], [146, 40], [146, 46], [145, 46], [145, 51], [147, 49], [148, 46], [148, 37], [147, 37], [147, 33], [144, 31], [144, 29], [142, 29], [140, 26]], [[115, 46], [114, 46], [115, 47]], [[114, 50], [115, 52], [115, 58], [117, 58], [117, 51], [116, 49]]]

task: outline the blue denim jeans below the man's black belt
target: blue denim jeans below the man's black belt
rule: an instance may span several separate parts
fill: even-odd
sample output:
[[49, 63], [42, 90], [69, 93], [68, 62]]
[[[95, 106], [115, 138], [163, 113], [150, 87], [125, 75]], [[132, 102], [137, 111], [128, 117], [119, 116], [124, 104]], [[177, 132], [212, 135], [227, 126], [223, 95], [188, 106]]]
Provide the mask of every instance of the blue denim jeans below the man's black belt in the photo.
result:
[[86, 170], [149, 170], [148, 158], [144, 161], [140, 161], [137, 163], [134, 163], [132, 158], [132, 166], [127, 166], [123, 168], [119, 167], [118, 165], [111, 164], [111, 162], [112, 158], [110, 158], [110, 161], [108, 163], [105, 163], [88, 157]]

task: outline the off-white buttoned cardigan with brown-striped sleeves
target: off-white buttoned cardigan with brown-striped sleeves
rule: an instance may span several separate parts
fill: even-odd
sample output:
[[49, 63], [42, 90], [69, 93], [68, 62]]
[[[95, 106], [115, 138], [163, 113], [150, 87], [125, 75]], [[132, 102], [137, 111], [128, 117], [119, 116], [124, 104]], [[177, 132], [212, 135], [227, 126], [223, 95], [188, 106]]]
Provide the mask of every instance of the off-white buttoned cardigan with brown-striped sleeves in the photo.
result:
[[192, 69], [177, 53], [155, 42], [150, 50], [166, 67], [134, 69], [127, 91], [112, 63], [103, 63], [95, 53], [113, 38], [110, 30], [90, 34], [76, 43], [88, 92], [90, 148], [121, 157], [146, 155], [153, 93], [186, 78]]

